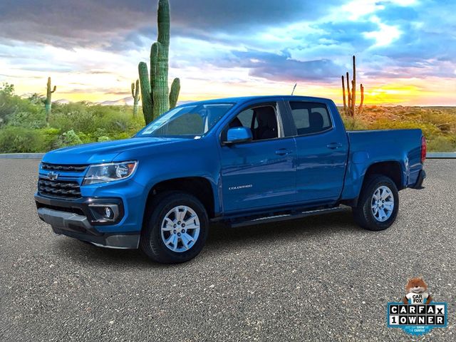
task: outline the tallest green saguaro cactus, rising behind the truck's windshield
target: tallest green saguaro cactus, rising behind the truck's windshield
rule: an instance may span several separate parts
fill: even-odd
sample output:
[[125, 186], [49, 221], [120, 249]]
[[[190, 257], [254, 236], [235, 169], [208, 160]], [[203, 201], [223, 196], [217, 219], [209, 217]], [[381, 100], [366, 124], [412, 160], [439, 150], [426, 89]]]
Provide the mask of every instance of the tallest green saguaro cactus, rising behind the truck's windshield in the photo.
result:
[[138, 72], [141, 83], [142, 113], [146, 125], [170, 108], [179, 98], [180, 80], [172, 81], [168, 89], [168, 56], [170, 51], [170, 4], [168, 0], [158, 1], [158, 37], [150, 48], [150, 73], [147, 64], [140, 62]]

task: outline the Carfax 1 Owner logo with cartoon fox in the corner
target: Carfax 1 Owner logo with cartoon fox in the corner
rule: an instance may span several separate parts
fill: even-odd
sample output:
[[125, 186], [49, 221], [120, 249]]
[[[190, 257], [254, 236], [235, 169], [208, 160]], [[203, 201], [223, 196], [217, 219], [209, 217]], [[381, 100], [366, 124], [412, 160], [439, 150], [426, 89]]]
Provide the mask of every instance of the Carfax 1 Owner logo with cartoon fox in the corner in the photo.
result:
[[388, 328], [423, 335], [447, 326], [447, 304], [432, 298], [423, 277], [408, 279], [402, 302], [388, 303]]

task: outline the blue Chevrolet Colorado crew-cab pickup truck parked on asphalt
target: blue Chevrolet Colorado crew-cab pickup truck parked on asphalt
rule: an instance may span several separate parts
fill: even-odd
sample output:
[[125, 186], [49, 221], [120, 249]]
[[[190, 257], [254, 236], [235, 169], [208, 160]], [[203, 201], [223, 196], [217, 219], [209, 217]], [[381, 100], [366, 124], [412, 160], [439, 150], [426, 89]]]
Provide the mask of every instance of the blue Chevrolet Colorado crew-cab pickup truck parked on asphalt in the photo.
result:
[[333, 101], [254, 96], [180, 105], [133, 138], [44, 155], [35, 194], [53, 232], [140, 248], [162, 263], [201, 252], [211, 222], [239, 227], [353, 209], [386, 229], [420, 189], [421, 130], [346, 132]]

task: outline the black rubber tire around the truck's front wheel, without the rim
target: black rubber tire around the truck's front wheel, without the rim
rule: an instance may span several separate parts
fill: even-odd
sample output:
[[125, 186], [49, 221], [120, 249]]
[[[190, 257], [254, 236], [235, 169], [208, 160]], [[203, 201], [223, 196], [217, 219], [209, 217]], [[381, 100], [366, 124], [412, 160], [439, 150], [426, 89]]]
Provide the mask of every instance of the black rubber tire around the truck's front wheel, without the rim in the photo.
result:
[[[185, 252], [173, 252], [162, 240], [161, 224], [165, 215], [177, 206], [190, 207], [199, 219], [199, 235], [196, 242]], [[145, 212], [145, 225], [142, 227], [140, 249], [153, 261], [162, 264], [175, 264], [196, 257], [204, 247], [209, 231], [209, 219], [199, 200], [185, 192], [162, 192], [152, 200]], [[182, 246], [182, 242], [180, 242]]]

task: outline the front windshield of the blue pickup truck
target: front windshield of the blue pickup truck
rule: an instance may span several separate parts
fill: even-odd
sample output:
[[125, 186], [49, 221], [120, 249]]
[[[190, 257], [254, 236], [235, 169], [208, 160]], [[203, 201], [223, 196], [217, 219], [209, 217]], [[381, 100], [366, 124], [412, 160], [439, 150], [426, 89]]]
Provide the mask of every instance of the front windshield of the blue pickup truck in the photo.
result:
[[232, 106], [232, 103], [181, 105], [152, 121], [136, 136], [197, 138], [209, 132]]

